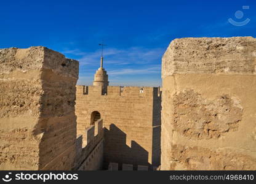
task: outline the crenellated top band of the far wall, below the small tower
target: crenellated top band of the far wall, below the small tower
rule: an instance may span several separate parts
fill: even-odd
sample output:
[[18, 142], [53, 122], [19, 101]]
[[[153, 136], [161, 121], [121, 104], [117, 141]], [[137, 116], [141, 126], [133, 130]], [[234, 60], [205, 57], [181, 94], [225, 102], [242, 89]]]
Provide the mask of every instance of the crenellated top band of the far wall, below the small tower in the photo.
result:
[[76, 85], [76, 94], [90, 96], [161, 96], [160, 87], [108, 86], [107, 93], [102, 93], [102, 86]]

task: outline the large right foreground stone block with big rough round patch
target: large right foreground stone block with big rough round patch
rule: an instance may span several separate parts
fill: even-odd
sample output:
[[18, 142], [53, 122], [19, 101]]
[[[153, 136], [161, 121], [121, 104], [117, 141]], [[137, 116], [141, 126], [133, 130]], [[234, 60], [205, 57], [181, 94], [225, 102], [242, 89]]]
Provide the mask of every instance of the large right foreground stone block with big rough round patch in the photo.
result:
[[162, 57], [161, 170], [256, 169], [256, 39], [173, 40]]

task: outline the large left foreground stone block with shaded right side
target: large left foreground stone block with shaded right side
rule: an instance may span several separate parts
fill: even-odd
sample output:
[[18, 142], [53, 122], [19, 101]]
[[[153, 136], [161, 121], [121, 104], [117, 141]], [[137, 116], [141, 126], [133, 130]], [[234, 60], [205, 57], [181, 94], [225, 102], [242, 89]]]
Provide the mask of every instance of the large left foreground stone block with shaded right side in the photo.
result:
[[46, 47], [0, 50], [0, 169], [70, 170], [78, 61]]

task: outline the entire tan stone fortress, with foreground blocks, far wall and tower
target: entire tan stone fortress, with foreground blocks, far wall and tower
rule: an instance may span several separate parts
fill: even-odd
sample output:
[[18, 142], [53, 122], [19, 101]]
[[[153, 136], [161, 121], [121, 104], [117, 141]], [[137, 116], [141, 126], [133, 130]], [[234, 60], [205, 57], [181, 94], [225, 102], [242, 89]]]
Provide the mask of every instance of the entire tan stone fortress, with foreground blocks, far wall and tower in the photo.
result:
[[[110, 86], [101, 64], [0, 50], [1, 170], [256, 170], [256, 39], [175, 39], [162, 88]], [[110, 81], [111, 84], [111, 81]]]

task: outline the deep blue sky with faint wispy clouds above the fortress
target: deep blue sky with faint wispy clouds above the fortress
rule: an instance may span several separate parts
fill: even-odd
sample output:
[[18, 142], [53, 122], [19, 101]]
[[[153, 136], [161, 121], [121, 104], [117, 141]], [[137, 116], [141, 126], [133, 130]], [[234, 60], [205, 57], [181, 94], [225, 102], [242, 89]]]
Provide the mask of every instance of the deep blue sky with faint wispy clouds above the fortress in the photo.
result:
[[[79, 85], [92, 84], [102, 40], [110, 85], [161, 86], [161, 57], [171, 40], [256, 37], [255, 0], [2, 1], [0, 17], [0, 48], [43, 45], [78, 59]], [[234, 26], [228, 18], [250, 21]]]

